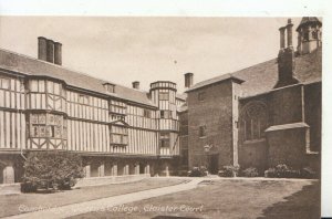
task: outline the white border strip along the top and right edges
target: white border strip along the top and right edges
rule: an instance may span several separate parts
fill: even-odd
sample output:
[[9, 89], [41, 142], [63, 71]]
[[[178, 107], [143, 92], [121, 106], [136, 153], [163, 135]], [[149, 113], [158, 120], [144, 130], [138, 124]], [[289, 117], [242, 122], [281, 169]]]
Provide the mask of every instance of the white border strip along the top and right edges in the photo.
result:
[[332, 116], [329, 116], [332, 112], [329, 43], [332, 23], [329, 8], [329, 0], [0, 0], [0, 15], [323, 17], [322, 217], [332, 216], [332, 164], [329, 159], [332, 157]]

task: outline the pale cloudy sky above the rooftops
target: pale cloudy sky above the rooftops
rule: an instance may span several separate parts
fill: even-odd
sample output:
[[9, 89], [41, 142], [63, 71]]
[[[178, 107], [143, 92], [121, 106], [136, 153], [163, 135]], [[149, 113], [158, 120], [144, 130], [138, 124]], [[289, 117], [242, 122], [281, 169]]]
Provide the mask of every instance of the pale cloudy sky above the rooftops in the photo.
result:
[[[301, 18], [292, 18], [293, 44]], [[0, 48], [38, 56], [42, 35], [63, 44], [63, 66], [131, 86], [184, 73], [200, 82], [273, 59], [287, 18], [0, 17]]]

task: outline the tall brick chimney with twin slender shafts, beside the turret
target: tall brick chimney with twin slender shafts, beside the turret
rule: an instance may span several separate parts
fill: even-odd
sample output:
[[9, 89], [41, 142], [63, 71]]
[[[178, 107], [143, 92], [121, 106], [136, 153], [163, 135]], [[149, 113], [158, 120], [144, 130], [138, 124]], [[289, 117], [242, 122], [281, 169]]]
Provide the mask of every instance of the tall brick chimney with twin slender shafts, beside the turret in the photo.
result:
[[[274, 88], [297, 84], [299, 81], [294, 77], [295, 54], [292, 46], [292, 21], [279, 29], [280, 31], [280, 50], [278, 54], [278, 82]], [[284, 46], [284, 30], [287, 30], [287, 48]]]

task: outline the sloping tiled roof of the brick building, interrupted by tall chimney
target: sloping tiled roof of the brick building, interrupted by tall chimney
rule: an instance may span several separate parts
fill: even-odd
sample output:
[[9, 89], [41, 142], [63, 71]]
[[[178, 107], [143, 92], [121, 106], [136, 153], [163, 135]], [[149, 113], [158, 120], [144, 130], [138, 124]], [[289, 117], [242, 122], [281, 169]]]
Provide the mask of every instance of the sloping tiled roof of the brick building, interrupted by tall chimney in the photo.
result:
[[[277, 59], [252, 65], [250, 67], [230, 73], [224, 74], [204, 82], [195, 84], [195, 87], [203, 87], [217, 83], [230, 77], [237, 77], [243, 80], [241, 83], [241, 90], [243, 97], [253, 96], [264, 92], [271, 91], [278, 81], [278, 63]], [[300, 55], [295, 58], [295, 72], [294, 76], [300, 83], [309, 84], [312, 82], [319, 82], [322, 77], [322, 50], [319, 48], [312, 53]]]

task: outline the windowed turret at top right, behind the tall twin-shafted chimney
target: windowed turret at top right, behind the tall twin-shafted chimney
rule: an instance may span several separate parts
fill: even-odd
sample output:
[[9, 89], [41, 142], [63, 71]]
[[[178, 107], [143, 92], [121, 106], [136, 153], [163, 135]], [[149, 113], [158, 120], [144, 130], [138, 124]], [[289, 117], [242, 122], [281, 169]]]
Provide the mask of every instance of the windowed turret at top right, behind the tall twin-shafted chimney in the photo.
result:
[[298, 31], [298, 53], [311, 53], [322, 45], [322, 22], [315, 17], [303, 17]]

